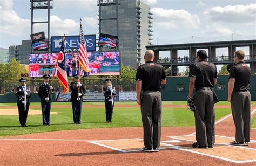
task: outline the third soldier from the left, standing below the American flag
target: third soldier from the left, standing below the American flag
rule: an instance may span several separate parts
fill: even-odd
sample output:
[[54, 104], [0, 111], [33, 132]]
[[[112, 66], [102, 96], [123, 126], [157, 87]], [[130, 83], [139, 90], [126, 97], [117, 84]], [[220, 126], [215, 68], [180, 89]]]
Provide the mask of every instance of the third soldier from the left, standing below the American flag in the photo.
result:
[[[78, 82], [79, 75], [73, 75], [74, 81], [70, 84], [71, 89], [71, 102], [73, 109], [73, 121], [75, 124], [81, 124], [81, 113], [83, 106], [83, 95], [86, 92], [84, 84], [82, 82]], [[78, 92], [79, 88], [79, 92]]]

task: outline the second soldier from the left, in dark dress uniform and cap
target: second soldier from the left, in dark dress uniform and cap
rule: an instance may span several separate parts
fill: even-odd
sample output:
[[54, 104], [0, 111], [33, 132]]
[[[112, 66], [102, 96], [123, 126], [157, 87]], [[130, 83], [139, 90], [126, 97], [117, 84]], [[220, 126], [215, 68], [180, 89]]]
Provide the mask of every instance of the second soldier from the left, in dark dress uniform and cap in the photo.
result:
[[51, 93], [55, 91], [53, 86], [49, 84], [50, 75], [43, 75], [44, 82], [39, 86], [38, 95], [41, 98], [41, 107], [43, 114], [43, 125], [50, 125], [50, 111], [52, 96]]

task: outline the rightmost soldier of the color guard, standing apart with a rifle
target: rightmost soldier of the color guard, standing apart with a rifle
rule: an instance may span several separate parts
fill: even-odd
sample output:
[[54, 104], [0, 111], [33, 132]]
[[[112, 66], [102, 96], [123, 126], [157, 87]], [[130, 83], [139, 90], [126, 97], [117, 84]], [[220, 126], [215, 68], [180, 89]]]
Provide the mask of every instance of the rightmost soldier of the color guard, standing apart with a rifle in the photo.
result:
[[111, 79], [105, 79], [104, 82], [106, 83], [106, 86], [103, 88], [103, 93], [105, 97], [106, 122], [112, 123], [114, 96], [116, 96], [117, 94], [111, 86]]

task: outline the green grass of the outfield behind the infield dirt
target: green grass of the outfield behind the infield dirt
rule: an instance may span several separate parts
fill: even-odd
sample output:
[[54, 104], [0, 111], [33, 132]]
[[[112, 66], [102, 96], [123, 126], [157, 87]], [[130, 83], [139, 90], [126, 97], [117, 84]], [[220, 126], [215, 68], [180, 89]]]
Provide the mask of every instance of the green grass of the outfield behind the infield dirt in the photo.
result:
[[[116, 102], [115, 105], [134, 105], [137, 102]], [[185, 105], [185, 101], [164, 101], [163, 104]], [[218, 105], [230, 105], [221, 101]], [[256, 104], [256, 102], [252, 102]], [[41, 105], [41, 103], [31, 103]], [[85, 128], [109, 128], [109, 127], [139, 127], [142, 126], [140, 108], [114, 108], [113, 123], [106, 123], [104, 108], [83, 108], [82, 124], [73, 124], [71, 102], [55, 102], [52, 105], [70, 105], [68, 108], [52, 108], [51, 111], [59, 114], [51, 114], [51, 126], [42, 125], [42, 115], [29, 115], [26, 125], [19, 127], [18, 115], [0, 116], [0, 137], [21, 135], [29, 133], [50, 132], [57, 130], [85, 129]], [[104, 105], [104, 102], [84, 102], [83, 105]], [[0, 103], [0, 106], [17, 106], [16, 103]], [[41, 108], [33, 108], [41, 110]], [[228, 108], [216, 108], [215, 119], [218, 120], [231, 110]], [[162, 126], [194, 126], [194, 115], [187, 108], [163, 108]], [[256, 118], [251, 122], [252, 128], [256, 128]]]

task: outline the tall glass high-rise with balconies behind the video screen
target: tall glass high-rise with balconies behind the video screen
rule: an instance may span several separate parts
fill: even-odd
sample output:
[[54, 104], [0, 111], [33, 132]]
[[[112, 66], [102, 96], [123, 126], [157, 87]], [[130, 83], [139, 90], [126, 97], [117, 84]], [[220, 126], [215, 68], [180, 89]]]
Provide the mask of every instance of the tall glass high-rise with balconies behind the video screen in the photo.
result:
[[[116, 1], [101, 4], [101, 33], [117, 36]], [[139, 0], [118, 1], [118, 45], [121, 62], [136, 68], [144, 63], [145, 45], [151, 45], [152, 13], [150, 6]]]

